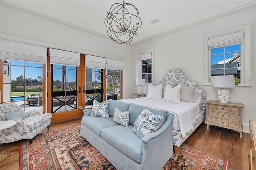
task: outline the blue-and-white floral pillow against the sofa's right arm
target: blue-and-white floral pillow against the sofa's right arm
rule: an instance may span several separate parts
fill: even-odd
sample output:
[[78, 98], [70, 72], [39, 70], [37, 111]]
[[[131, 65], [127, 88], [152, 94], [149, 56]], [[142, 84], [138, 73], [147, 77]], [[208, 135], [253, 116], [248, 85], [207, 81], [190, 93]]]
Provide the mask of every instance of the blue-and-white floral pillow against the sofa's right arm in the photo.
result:
[[160, 115], [154, 115], [150, 109], [143, 109], [138, 115], [132, 131], [142, 139], [144, 136], [157, 131], [164, 124], [164, 117]]

